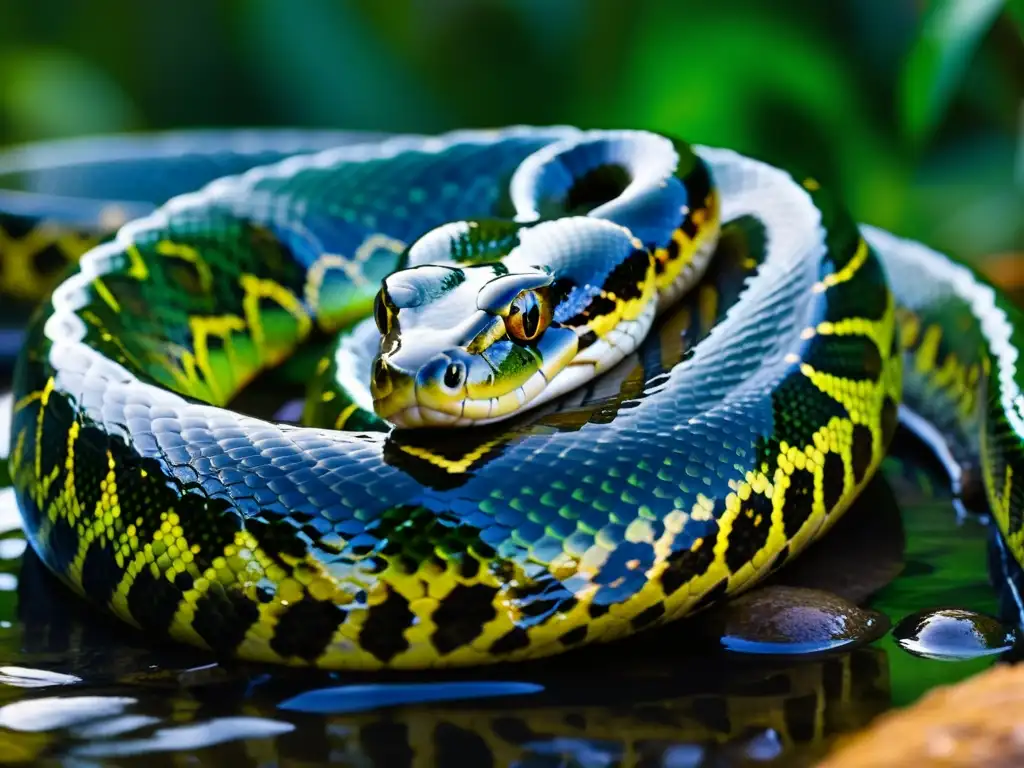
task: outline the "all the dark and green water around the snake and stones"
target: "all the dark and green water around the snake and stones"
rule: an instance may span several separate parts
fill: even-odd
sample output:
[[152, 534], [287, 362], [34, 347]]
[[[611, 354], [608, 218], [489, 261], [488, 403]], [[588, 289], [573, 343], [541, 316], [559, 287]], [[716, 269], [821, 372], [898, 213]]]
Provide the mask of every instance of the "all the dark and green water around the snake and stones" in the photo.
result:
[[[877, 592], [869, 605], [893, 624], [939, 606], [997, 612], [986, 528], [957, 519], [912, 443], [900, 456], [779, 581], [861, 602]], [[218, 664], [154, 645], [68, 594], [18, 522], [0, 490], [0, 763], [806, 765], [838, 734], [995, 660], [922, 658], [891, 633], [833, 653], [730, 654], [698, 616], [613, 646], [441, 676]]]

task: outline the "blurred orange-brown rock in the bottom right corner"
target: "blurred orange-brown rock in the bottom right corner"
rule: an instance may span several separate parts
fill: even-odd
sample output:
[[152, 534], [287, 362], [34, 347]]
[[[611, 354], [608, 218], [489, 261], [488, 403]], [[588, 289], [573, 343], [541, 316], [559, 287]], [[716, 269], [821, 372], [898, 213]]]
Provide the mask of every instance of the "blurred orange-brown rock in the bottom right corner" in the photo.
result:
[[841, 739], [818, 768], [1024, 765], [1024, 666], [999, 665]]

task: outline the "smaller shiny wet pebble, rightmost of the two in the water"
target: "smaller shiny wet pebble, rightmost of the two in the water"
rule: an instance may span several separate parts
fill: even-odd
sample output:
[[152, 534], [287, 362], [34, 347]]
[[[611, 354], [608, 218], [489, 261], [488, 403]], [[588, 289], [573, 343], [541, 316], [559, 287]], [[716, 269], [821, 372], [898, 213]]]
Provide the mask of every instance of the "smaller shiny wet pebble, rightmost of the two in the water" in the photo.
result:
[[911, 613], [896, 625], [893, 636], [908, 653], [948, 662], [1002, 653], [1016, 639], [997, 618], [964, 608]]

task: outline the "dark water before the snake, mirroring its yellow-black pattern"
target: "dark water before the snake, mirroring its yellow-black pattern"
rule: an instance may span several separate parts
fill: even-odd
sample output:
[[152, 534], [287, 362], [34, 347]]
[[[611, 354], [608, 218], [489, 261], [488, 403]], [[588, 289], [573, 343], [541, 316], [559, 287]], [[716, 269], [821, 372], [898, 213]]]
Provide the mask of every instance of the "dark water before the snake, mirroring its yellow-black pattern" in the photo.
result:
[[190, 765], [806, 762], [890, 701], [880, 649], [754, 659], [721, 651], [694, 622], [443, 676], [218, 664], [98, 616], [31, 550], [19, 574], [16, 608], [0, 613], [14, 620], [0, 633], [0, 664], [10, 665], [0, 670], [0, 750], [37, 759], [150, 768], [184, 752]]

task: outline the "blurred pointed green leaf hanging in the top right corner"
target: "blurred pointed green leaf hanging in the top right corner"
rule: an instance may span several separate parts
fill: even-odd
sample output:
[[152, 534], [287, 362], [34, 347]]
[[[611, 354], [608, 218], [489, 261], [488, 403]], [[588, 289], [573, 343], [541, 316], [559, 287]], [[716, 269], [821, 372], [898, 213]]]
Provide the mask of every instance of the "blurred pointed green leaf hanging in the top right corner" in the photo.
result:
[[912, 141], [926, 140], [935, 129], [1005, 2], [933, 0], [925, 10], [901, 82], [903, 131]]

